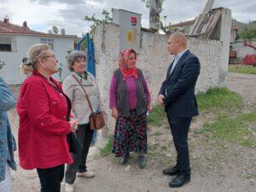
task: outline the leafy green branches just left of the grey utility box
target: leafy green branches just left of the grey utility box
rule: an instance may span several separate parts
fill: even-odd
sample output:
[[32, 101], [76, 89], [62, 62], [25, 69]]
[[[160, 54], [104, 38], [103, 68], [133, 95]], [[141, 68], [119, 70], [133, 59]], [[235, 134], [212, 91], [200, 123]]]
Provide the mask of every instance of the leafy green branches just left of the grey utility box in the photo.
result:
[[96, 18], [96, 14], [92, 14], [91, 16], [85, 15], [84, 20], [91, 22], [90, 25], [90, 34], [92, 35], [92, 31], [96, 28], [97, 25], [101, 23], [111, 23], [112, 17], [110, 17], [109, 12], [106, 9], [102, 10], [103, 19]]

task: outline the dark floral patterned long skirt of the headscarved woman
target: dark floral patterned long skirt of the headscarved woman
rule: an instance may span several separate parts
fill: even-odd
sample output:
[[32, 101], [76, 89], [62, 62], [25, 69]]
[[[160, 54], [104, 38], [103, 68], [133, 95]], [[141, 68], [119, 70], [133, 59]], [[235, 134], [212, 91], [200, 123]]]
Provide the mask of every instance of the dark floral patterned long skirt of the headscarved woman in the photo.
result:
[[147, 153], [147, 113], [137, 116], [137, 110], [131, 110], [131, 116], [119, 116], [116, 121], [112, 152], [123, 156], [127, 152]]

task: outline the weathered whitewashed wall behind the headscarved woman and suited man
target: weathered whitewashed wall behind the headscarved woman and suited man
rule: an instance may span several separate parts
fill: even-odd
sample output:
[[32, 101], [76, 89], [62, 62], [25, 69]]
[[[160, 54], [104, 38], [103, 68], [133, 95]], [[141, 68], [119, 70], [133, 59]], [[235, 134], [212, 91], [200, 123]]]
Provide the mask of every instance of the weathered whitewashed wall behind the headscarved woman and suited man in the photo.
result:
[[[167, 35], [147, 31], [142, 31], [141, 35], [137, 67], [143, 70], [151, 91], [152, 100], [155, 102], [160, 85], [166, 78], [167, 68], [173, 58], [166, 50]], [[94, 34], [94, 42], [96, 81], [101, 90], [104, 104], [108, 109], [111, 76], [119, 66], [119, 27], [113, 24], [99, 25]], [[189, 38], [188, 43], [190, 51], [196, 54], [201, 61], [201, 75], [196, 84], [196, 92], [217, 87], [219, 83], [219, 65], [222, 65], [223, 62], [223, 43], [198, 38]], [[111, 119], [113, 120], [113, 118]]]

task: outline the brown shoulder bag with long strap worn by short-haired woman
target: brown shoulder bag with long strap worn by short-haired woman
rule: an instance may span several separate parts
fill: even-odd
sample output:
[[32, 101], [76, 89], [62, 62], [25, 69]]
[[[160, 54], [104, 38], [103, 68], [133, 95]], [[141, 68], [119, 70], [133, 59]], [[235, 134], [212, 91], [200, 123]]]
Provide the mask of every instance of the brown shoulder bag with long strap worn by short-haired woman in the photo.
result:
[[[79, 82], [79, 79], [76, 76], [74, 76], [74, 75], [72, 75], [72, 76], [77, 82]], [[102, 111], [99, 111], [99, 112], [96, 113], [92, 110], [92, 106], [90, 104], [90, 99], [89, 99], [88, 94], [86, 93], [86, 91], [84, 89], [84, 86], [82, 85], [81, 82], [79, 82], [79, 85], [81, 86], [81, 88], [84, 91], [85, 99], [88, 101], [88, 104], [89, 104], [89, 107], [90, 107], [90, 110], [91, 110], [90, 129], [91, 130], [93, 130], [93, 129], [102, 129], [105, 126], [105, 121], [104, 121], [104, 116], [103, 116]]]

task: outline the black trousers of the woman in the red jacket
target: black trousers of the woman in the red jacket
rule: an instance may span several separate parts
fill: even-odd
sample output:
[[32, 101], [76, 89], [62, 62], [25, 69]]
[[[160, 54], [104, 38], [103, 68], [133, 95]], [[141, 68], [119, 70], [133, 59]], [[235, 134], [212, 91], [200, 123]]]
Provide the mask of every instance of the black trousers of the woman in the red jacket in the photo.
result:
[[41, 192], [61, 191], [61, 181], [64, 177], [64, 164], [46, 169], [37, 168], [41, 184]]

